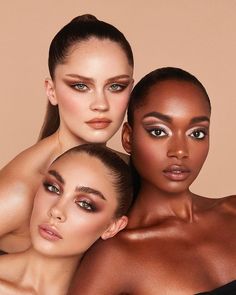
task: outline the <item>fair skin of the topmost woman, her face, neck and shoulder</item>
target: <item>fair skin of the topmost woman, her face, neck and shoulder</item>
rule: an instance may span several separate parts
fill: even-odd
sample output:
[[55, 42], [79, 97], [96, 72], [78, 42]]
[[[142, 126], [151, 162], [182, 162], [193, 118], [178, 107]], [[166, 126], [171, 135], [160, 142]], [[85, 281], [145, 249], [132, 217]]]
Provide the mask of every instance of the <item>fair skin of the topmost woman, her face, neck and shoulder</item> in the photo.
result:
[[56, 133], [23, 151], [0, 171], [1, 250], [12, 253], [30, 246], [34, 196], [52, 161], [76, 145], [106, 144], [119, 129], [132, 74], [119, 44], [91, 38], [74, 45], [66, 61], [57, 65], [55, 78], [46, 79], [46, 93], [59, 107], [61, 124]]

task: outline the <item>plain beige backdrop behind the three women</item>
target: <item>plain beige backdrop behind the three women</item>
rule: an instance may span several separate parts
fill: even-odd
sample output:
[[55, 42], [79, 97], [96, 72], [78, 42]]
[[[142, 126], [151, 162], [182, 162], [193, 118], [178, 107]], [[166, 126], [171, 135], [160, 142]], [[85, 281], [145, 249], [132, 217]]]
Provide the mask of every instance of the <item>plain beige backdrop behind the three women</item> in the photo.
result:
[[[0, 167], [37, 139], [46, 106], [43, 81], [52, 37], [74, 16], [92, 13], [127, 36], [135, 56], [136, 81], [169, 65], [194, 73], [204, 83], [213, 105], [211, 151], [193, 188], [211, 197], [236, 192], [235, 0], [4, 2]], [[110, 145], [122, 150], [120, 134]]]

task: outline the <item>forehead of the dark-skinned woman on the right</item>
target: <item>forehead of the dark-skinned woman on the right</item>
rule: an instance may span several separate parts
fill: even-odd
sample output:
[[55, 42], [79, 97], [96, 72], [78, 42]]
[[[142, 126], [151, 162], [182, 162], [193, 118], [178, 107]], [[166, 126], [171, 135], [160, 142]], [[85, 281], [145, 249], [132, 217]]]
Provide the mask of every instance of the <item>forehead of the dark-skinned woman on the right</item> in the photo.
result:
[[210, 109], [203, 91], [187, 81], [167, 80], [151, 87], [134, 116], [156, 111], [170, 117], [210, 117]]

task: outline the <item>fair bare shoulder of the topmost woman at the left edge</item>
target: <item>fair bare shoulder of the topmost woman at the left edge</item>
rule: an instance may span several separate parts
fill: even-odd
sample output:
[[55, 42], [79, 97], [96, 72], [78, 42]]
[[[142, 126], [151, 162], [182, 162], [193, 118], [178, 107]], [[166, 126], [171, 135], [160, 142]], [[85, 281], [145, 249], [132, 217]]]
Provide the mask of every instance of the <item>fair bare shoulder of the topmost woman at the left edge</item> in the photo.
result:
[[46, 166], [47, 162], [45, 150], [45, 144], [37, 143], [0, 170], [0, 215], [4, 220], [0, 224], [0, 237], [28, 224], [34, 195], [43, 176], [42, 165]]

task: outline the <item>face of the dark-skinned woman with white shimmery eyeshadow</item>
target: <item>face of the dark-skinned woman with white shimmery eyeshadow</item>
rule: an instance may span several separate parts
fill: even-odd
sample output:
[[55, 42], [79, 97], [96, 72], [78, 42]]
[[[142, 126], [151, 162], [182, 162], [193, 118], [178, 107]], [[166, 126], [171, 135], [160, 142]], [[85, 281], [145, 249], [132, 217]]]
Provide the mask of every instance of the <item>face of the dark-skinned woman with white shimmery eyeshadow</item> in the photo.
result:
[[134, 112], [130, 135], [142, 183], [171, 194], [188, 190], [208, 153], [209, 120], [207, 99], [193, 84], [169, 80], [153, 86]]

